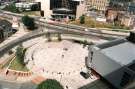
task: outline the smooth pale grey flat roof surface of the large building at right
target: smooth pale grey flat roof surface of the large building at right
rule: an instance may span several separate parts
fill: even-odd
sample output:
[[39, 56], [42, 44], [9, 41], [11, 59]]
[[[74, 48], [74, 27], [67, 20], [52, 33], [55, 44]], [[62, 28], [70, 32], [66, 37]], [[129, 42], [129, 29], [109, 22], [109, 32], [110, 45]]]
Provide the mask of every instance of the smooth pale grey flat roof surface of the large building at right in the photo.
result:
[[135, 44], [128, 41], [101, 49], [101, 52], [121, 66], [135, 61]]

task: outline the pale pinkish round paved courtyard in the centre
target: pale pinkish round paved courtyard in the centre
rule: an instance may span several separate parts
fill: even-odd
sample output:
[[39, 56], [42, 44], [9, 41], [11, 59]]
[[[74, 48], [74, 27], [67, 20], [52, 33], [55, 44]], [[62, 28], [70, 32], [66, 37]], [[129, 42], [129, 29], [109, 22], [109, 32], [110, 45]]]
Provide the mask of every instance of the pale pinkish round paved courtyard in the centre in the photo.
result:
[[85, 67], [88, 50], [71, 41], [39, 42], [27, 50], [25, 62], [33, 72], [73, 75]]

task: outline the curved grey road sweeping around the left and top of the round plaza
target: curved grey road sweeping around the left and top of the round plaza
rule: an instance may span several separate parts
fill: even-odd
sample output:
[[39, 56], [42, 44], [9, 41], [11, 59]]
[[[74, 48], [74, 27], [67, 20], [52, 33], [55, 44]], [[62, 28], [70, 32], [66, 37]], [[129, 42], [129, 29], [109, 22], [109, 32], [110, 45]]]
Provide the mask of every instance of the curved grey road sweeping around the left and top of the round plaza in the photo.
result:
[[[12, 42], [9, 42], [8, 44], [5, 44], [4, 46], [2, 46], [0, 48], [0, 57], [2, 57], [4, 53], [9, 51], [14, 46], [16, 46], [18, 44], [21, 44], [22, 42], [27, 41], [29, 39], [43, 36], [46, 33], [63, 34], [63, 35], [64, 34], [69, 34], [69, 35], [71, 35], [71, 37], [75, 36], [75, 35], [79, 35], [80, 37], [84, 36], [84, 37], [89, 37], [90, 38], [90, 37], [93, 36], [92, 34], [88, 34], [88, 33], [85, 33], [85, 32], [76, 32], [76, 31], [63, 30], [63, 28], [61, 28], [61, 30], [59, 28], [58, 31], [56, 31], [56, 30], [49, 30], [47, 32], [41, 31], [41, 30], [35, 30], [35, 31], [29, 32], [28, 34], [26, 34], [26, 35], [24, 35], [24, 36], [22, 36], [22, 37], [20, 37], [20, 38], [18, 38], [16, 40], [13, 40]], [[99, 36], [99, 37], [101, 37], [101, 36]]]

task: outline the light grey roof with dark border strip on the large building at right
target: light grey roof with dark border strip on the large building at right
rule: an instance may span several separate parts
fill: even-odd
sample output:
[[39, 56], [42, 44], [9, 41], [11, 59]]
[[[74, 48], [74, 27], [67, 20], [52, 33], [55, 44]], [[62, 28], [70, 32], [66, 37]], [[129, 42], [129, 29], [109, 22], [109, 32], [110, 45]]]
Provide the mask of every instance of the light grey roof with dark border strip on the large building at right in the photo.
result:
[[128, 66], [135, 71], [135, 32], [130, 32], [126, 39], [117, 39], [104, 44], [99, 44], [96, 49], [101, 53], [117, 62], [121, 66]]

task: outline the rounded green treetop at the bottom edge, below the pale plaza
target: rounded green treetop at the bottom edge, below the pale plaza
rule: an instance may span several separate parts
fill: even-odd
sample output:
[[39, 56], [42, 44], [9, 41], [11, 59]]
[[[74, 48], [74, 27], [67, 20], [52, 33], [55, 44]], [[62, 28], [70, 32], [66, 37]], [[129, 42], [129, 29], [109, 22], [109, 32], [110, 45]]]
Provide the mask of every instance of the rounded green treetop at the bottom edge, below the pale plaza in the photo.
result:
[[63, 86], [54, 79], [47, 79], [38, 85], [37, 89], [64, 89]]

